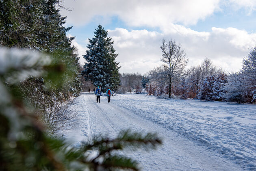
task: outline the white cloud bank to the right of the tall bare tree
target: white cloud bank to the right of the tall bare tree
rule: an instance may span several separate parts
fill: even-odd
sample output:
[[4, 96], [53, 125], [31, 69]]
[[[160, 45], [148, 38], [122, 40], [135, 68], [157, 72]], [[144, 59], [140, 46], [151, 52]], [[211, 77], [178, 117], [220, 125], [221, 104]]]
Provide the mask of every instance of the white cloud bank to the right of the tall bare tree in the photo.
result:
[[255, 33], [236, 28], [213, 27], [211, 32], [195, 32], [183, 27], [179, 32], [170, 31], [165, 37], [173, 38], [182, 45], [190, 66], [200, 64], [203, 58], [208, 57], [226, 71], [239, 71], [242, 59], [256, 45]]

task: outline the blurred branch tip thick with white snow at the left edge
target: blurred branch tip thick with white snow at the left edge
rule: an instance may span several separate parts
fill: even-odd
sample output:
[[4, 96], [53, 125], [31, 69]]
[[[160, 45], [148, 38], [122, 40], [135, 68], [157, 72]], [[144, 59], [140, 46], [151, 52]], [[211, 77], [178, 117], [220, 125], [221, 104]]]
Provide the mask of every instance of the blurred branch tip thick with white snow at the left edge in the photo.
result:
[[0, 48], [0, 78], [15, 84], [30, 76], [41, 76], [51, 61], [50, 56], [39, 52]]

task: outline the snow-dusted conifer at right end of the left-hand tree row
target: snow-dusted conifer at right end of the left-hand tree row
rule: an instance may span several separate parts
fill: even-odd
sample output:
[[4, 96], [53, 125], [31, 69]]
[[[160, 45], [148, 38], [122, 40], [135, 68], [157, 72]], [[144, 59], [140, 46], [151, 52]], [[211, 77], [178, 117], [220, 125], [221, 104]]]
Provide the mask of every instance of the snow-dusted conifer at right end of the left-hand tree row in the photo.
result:
[[66, 33], [72, 28], [65, 28], [66, 17], [62, 17], [60, 9], [56, 8], [58, 0], [41, 1], [41, 23], [35, 29], [37, 35], [36, 49], [43, 52], [48, 52], [56, 56], [62, 63], [65, 63], [67, 68], [63, 73], [66, 77], [73, 79], [68, 80], [62, 87], [57, 89], [59, 92], [67, 95], [71, 92], [74, 96], [78, 96], [81, 91], [81, 82], [78, 73], [78, 57], [75, 53], [75, 47], [71, 45], [74, 37], [67, 37]]

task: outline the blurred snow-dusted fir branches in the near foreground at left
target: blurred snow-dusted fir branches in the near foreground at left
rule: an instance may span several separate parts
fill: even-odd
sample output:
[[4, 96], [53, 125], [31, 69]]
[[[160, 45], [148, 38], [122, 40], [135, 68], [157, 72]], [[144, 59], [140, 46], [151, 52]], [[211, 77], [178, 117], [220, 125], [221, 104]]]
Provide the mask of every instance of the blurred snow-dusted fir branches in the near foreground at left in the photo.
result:
[[[63, 140], [49, 136], [45, 133], [45, 126], [36, 110], [25, 106], [23, 98], [20, 98], [22, 93], [17, 78], [9, 79], [9, 76], [10, 72], [16, 71], [24, 73], [18, 78], [24, 81], [28, 77], [44, 76], [45, 82], [60, 85], [65, 79], [69, 79], [63, 74], [66, 67], [63, 69], [58, 60], [54, 61], [43, 54], [30, 52], [28, 55], [28, 52], [13, 51], [17, 50], [0, 49], [0, 57], [3, 59], [0, 67], [7, 66], [0, 71], [0, 170], [137, 171], [140, 169], [137, 161], [119, 156], [115, 152], [130, 146], [150, 149], [161, 144], [162, 141], [156, 134], [144, 135], [130, 130], [122, 131], [116, 139], [97, 137], [79, 149], [69, 147]], [[22, 67], [17, 67], [10, 59], [20, 59], [24, 63]], [[56, 77], [53, 78], [54, 74]], [[92, 152], [97, 155], [91, 155]]]

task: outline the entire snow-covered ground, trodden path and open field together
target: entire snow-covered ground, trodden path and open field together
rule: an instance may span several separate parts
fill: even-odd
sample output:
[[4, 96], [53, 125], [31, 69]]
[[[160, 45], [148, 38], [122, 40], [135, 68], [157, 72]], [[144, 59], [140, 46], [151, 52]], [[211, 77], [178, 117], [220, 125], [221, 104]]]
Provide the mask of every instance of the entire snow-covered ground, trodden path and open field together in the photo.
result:
[[256, 105], [164, 100], [125, 94], [108, 103], [82, 93], [74, 101], [82, 126], [65, 132], [74, 146], [120, 130], [157, 132], [164, 143], [150, 152], [126, 150], [145, 170], [256, 170]]

